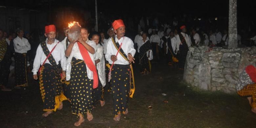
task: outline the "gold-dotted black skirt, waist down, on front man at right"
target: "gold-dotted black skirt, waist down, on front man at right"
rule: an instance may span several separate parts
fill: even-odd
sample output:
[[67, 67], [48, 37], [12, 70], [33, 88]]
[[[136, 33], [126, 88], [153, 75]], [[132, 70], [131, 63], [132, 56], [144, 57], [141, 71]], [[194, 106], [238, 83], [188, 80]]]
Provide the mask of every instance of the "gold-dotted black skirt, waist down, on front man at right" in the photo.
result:
[[130, 89], [130, 65], [114, 64], [111, 72], [111, 86], [114, 102], [114, 115], [127, 109]]

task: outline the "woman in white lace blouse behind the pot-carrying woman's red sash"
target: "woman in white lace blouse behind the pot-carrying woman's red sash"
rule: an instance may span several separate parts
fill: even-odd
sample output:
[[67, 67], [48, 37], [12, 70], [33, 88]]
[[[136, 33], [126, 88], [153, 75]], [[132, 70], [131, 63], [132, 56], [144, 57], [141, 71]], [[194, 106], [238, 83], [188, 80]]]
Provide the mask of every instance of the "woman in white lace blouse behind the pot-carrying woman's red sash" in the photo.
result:
[[95, 55], [95, 65], [97, 68], [98, 73], [98, 87], [96, 89], [93, 89], [93, 108], [96, 107], [97, 102], [100, 101], [101, 107], [105, 105], [104, 100], [104, 89], [106, 85], [106, 74], [105, 74], [105, 60], [104, 60], [104, 54], [103, 54], [103, 47], [99, 44], [99, 34], [93, 33], [91, 40], [95, 42], [96, 44], [96, 55]]

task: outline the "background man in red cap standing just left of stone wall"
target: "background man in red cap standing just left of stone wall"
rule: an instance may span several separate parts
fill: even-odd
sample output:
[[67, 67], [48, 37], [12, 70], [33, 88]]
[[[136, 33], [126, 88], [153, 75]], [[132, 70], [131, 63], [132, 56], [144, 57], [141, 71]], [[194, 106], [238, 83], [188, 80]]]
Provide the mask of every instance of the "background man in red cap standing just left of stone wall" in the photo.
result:
[[179, 56], [179, 69], [184, 69], [188, 47], [191, 46], [191, 40], [189, 36], [186, 34], [187, 29], [186, 26], [181, 26], [181, 33], [177, 34], [177, 51]]

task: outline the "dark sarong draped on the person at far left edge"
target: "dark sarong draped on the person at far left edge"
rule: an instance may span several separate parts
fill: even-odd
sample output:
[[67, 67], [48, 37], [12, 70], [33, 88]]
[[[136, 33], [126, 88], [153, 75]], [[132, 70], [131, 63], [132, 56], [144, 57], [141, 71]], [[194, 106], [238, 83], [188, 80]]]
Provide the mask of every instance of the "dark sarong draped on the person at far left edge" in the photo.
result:
[[0, 86], [7, 86], [11, 65], [11, 49], [5, 39], [0, 40], [0, 49]]

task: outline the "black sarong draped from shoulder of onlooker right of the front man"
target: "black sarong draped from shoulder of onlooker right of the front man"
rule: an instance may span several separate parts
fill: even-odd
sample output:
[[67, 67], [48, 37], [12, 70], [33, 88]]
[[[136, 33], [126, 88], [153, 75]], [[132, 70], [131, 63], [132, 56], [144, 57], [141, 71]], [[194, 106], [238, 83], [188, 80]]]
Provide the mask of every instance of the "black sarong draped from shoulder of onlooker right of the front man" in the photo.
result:
[[147, 52], [152, 50], [150, 41], [148, 40], [139, 48], [139, 63], [140, 63], [140, 72], [148, 71], [151, 73], [151, 63], [147, 57]]

